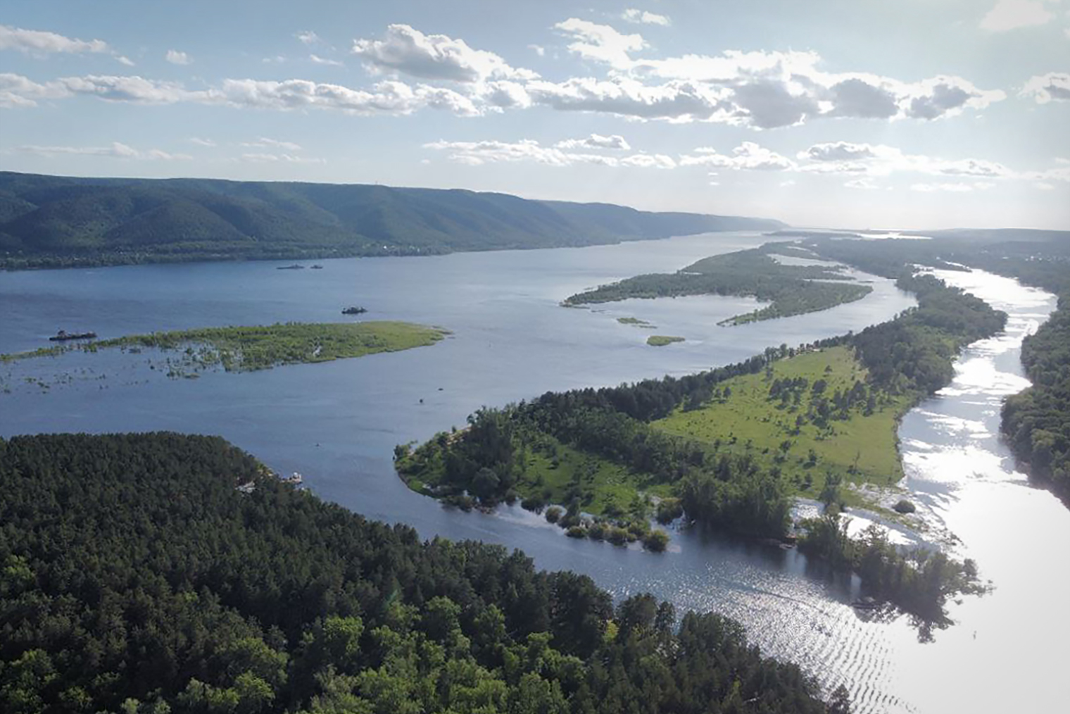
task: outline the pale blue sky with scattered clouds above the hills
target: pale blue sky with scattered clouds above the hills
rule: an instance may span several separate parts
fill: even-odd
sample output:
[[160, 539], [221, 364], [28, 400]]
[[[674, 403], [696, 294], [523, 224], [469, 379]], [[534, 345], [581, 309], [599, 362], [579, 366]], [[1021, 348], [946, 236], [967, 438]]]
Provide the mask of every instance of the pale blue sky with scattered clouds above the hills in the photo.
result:
[[1070, 229], [1070, 0], [0, 0], [0, 169]]

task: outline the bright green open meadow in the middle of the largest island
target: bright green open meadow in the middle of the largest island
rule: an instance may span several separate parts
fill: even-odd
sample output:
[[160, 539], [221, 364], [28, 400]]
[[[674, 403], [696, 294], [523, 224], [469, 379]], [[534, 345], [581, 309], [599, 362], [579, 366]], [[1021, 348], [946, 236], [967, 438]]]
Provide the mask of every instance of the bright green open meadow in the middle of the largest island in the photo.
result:
[[[862, 408], [855, 408], [846, 420], [828, 420], [824, 429], [808, 420], [796, 435], [796, 417], [806, 414], [813, 398], [810, 385], [825, 380], [825, 395], [831, 395], [850, 390], [856, 380], [865, 382], [866, 370], [850, 348], [836, 347], [780, 360], [771, 371], [771, 379], [759, 374], [723, 382], [718, 389], [729, 388], [727, 397], [715, 398], [698, 410], [677, 410], [654, 425], [707, 443], [719, 441], [721, 451], [750, 453], [763, 465], [779, 467], [798, 493], [810, 497], [821, 490], [829, 471], [856, 484], [888, 486], [902, 477], [896, 431], [899, 417], [913, 404], [911, 395], [881, 395], [872, 414], [867, 416]], [[798, 377], [808, 381], [798, 406], [791, 401], [782, 406], [779, 399], [769, 398], [774, 380]], [[791, 446], [781, 451], [788, 441]], [[816, 456], [813, 461], [811, 450]], [[812, 484], [809, 487], [805, 486], [807, 476]]]

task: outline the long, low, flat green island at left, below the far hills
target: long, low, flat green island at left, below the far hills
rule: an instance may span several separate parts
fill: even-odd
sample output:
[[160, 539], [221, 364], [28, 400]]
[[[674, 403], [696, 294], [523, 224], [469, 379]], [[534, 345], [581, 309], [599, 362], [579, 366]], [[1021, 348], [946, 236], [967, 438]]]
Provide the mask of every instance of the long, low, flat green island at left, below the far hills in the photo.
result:
[[10, 362], [39, 356], [56, 356], [71, 350], [95, 352], [121, 348], [156, 348], [180, 352], [171, 365], [175, 375], [184, 369], [215, 365], [227, 371], [253, 371], [312, 362], [358, 358], [377, 352], [397, 352], [433, 345], [447, 331], [409, 322], [282, 322], [266, 326], [201, 328], [127, 335], [78, 345], [46, 347], [32, 352], [0, 354]]

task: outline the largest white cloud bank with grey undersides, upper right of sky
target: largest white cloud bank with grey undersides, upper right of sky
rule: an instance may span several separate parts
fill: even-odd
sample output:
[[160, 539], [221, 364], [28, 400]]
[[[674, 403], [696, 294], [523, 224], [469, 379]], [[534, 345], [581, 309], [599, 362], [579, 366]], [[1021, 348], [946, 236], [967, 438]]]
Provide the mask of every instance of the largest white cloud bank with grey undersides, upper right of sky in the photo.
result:
[[934, 120], [1006, 98], [1002, 91], [979, 89], [962, 77], [904, 82], [867, 73], [829, 73], [812, 51], [632, 59], [645, 46], [640, 35], [575, 18], [555, 27], [577, 39], [571, 51], [611, 70], [602, 80], [533, 82], [545, 97], [540, 103], [557, 109], [776, 128], [820, 118]]

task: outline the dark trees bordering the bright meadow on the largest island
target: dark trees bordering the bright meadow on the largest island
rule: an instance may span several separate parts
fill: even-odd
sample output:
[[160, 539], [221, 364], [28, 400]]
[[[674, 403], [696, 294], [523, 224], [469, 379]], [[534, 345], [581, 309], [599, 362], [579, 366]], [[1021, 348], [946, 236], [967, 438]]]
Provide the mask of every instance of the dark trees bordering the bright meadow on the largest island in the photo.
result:
[[[540, 476], [533, 478], [528, 473], [529, 457], [539, 451], [555, 456], [564, 444], [626, 467], [637, 474], [637, 485], [668, 485], [678, 501], [667, 499], [664, 502], [672, 505], [658, 507], [658, 515], [672, 518], [682, 510], [690, 520], [731, 532], [784, 536], [793, 499], [789, 474], [781, 468], [765, 468], [752, 454], [732, 453], [716, 442], [666, 434], [651, 422], [722, 397], [719, 385], [733, 377], [766, 373], [773, 362], [799, 350], [840, 345], [851, 347], [866, 368], [868, 393], [908, 395], [912, 398], [905, 404], [911, 404], [950, 381], [959, 349], [997, 333], [1006, 321], [1004, 313], [931, 275], [907, 272], [898, 285], [917, 295], [918, 306], [856, 335], [798, 349], [786, 345], [769, 348], [743, 363], [682, 378], [547, 393], [503, 409], [480, 409], [469, 417], [463, 430], [442, 432], [414, 451], [398, 446], [398, 471], [410, 485], [430, 487], [433, 495], [454, 503], [478, 500], [489, 505], [520, 498], [523, 505], [538, 510], [546, 503], [546, 491]], [[855, 408], [865, 409], [865, 400]], [[647, 513], [641, 508], [602, 511], [585, 521], [582, 514], [598, 498], [599, 484], [583, 476], [575, 474], [562, 504], [567, 508], [565, 516], [555, 514], [554, 519], [568, 527], [570, 535], [603, 537], [607, 529], [616, 528], [644, 537]], [[828, 487], [823, 500], [838, 502], [836, 484], [830, 482]], [[593, 526], [597, 527], [594, 533]], [[829, 552], [824, 548], [813, 551], [823, 557]], [[853, 556], [829, 558], [829, 562], [849, 569], [859, 567]], [[883, 562], [883, 567], [892, 571], [900, 566]], [[923, 567], [923, 563], [904, 560], [903, 567]], [[937, 588], [929, 587], [919, 575], [905, 580], [900, 577], [905, 583], [902, 589], [882, 587], [883, 580], [876, 579], [870, 592], [912, 611], [943, 612], [945, 588], [972, 587], [976, 573], [967, 575], [965, 566], [959, 564], [937, 573]]]

